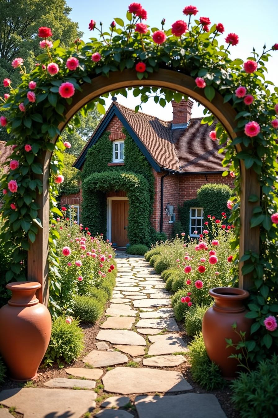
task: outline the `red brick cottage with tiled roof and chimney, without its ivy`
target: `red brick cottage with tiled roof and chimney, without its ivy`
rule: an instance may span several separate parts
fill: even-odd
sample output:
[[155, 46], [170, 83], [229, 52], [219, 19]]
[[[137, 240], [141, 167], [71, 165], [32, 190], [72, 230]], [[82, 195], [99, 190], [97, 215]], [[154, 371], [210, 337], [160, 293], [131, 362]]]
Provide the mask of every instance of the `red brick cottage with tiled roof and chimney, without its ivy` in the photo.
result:
[[[104, 133], [109, 134], [113, 153], [103, 171], [124, 166], [124, 132], [127, 131], [153, 171], [154, 202], [150, 223], [156, 231], [165, 232], [170, 237], [173, 222], [178, 219], [178, 206], [182, 206], [185, 200], [196, 198], [197, 190], [203, 184], [222, 183], [233, 187], [232, 178], [222, 177], [222, 157], [218, 154], [220, 145], [209, 138], [215, 125], [202, 125], [201, 117], [191, 117], [193, 102], [190, 99], [172, 102], [173, 120], [168, 122], [135, 113], [119, 104], [116, 98], [112, 100], [73, 166], [83, 170], [88, 150]], [[128, 196], [125, 191], [110, 190], [106, 193], [106, 202], [107, 231], [102, 232], [107, 232], [114, 245], [125, 247], [128, 243]], [[82, 185], [78, 194], [61, 197], [61, 206], [66, 204], [74, 205], [77, 218], [81, 219]], [[203, 208], [190, 208], [190, 217], [192, 227], [185, 233], [192, 235], [194, 229], [201, 233]]]

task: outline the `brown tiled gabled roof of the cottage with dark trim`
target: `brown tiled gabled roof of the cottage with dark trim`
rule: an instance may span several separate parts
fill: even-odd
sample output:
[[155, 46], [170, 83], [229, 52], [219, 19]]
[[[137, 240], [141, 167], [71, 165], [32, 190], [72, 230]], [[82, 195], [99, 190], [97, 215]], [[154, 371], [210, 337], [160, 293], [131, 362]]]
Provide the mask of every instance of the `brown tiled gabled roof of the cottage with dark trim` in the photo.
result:
[[137, 112], [112, 102], [88, 143], [73, 164], [81, 168], [88, 149], [103, 134], [113, 116], [117, 116], [155, 171], [178, 173], [223, 172], [220, 145], [209, 138], [213, 125], [201, 125], [202, 118], [192, 118], [185, 128], [171, 129], [172, 121]]

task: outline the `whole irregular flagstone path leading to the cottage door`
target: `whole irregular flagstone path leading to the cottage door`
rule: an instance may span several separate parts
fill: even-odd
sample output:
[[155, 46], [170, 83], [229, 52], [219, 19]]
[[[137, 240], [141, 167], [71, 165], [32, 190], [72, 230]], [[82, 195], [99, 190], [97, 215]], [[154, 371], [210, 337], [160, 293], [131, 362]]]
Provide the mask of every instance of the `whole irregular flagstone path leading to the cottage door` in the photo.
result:
[[[117, 266], [106, 320], [84, 368], [68, 367], [68, 378], [50, 379], [44, 389], [3, 390], [0, 404], [24, 418], [81, 418], [87, 411], [96, 418], [225, 418], [214, 395], [193, 393], [173, 369], [186, 362], [188, 348], [163, 279], [143, 257], [119, 253]], [[97, 398], [99, 387], [104, 394]], [[0, 408], [2, 416], [12, 415]]]

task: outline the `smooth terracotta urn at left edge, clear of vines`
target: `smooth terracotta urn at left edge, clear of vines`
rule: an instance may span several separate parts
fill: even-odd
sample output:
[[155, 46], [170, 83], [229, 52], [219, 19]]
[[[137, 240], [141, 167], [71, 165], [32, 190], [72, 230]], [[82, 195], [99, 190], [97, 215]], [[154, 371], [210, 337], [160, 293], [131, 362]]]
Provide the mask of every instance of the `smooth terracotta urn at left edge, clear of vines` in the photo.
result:
[[13, 380], [34, 379], [47, 350], [51, 334], [51, 316], [35, 293], [38, 282], [13, 282], [8, 304], [0, 309], [0, 353]]

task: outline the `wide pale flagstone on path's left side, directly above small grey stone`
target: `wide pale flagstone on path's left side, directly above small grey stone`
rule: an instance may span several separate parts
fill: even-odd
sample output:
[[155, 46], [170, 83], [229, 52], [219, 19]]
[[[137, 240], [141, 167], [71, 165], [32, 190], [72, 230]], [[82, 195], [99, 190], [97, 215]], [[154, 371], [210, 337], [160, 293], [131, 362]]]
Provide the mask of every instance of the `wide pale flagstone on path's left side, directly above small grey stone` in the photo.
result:
[[146, 345], [142, 336], [125, 329], [102, 329], [95, 338], [109, 341], [112, 344]]

